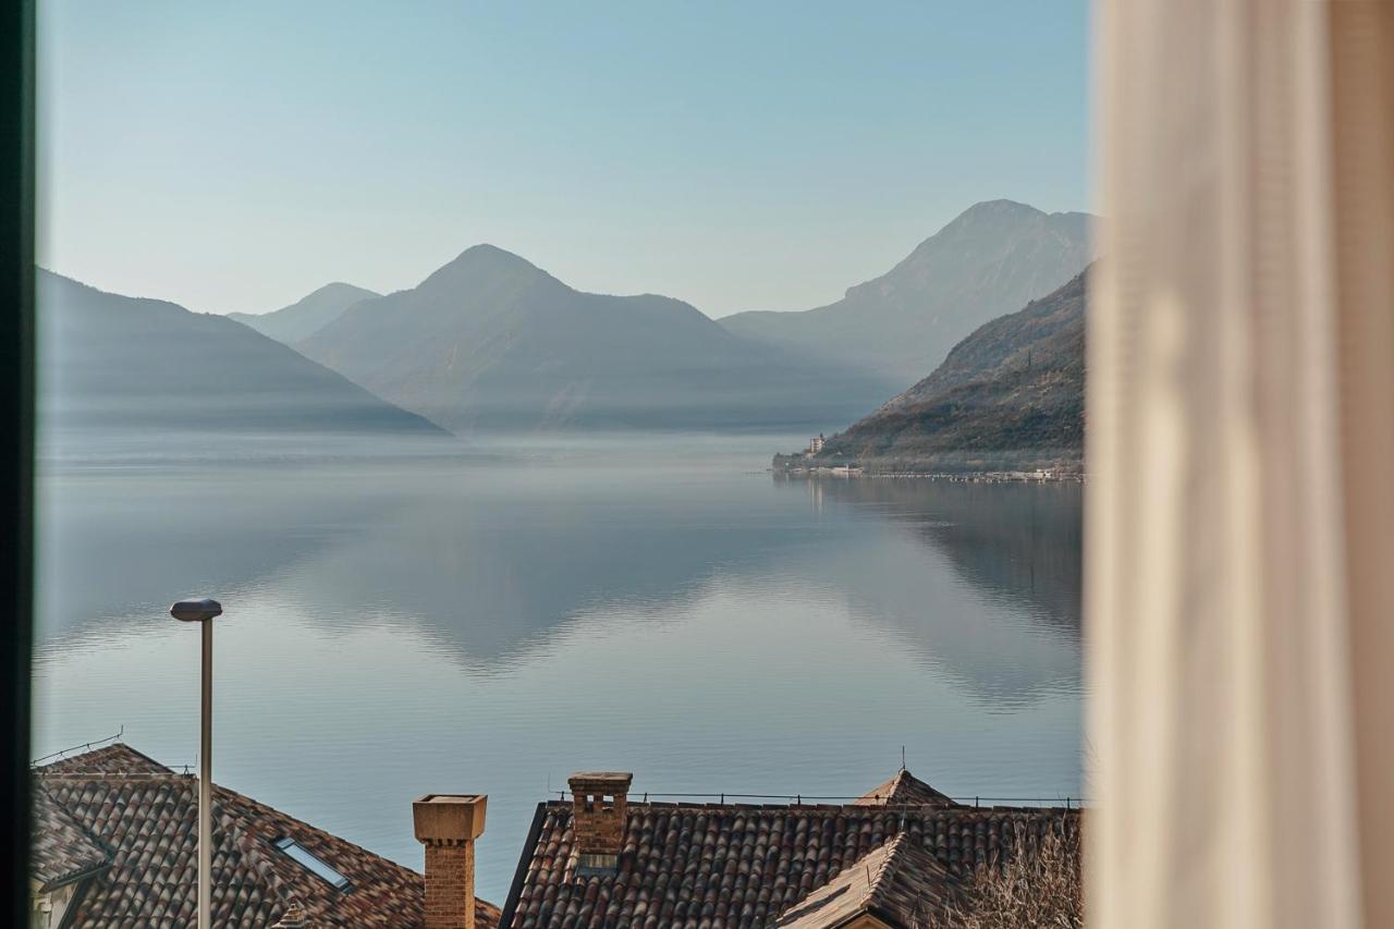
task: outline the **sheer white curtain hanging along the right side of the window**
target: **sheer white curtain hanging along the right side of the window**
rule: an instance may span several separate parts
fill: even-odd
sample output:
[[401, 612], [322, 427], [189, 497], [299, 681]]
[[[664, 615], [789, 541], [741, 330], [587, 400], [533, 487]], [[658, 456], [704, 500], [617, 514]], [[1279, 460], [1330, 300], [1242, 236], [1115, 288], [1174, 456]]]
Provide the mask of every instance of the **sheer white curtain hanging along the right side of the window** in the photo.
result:
[[1089, 922], [1394, 928], [1394, 3], [1094, 28]]

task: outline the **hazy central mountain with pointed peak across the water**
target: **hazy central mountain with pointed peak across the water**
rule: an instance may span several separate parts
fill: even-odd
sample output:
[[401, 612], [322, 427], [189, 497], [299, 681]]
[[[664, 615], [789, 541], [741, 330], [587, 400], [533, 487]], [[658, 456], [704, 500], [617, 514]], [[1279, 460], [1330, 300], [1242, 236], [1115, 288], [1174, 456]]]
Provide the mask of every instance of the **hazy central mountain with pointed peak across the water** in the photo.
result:
[[574, 290], [475, 246], [296, 347], [456, 432], [818, 425], [887, 396], [875, 378], [732, 335], [690, 304]]

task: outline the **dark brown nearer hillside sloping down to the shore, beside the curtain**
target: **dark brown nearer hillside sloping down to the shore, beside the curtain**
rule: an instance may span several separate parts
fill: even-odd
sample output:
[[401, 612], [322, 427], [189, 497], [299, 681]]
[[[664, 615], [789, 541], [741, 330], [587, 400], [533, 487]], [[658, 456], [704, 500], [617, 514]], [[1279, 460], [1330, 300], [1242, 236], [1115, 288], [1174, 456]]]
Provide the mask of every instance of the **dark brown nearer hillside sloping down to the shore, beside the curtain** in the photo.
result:
[[1086, 278], [1082, 272], [979, 328], [934, 374], [827, 439], [811, 463], [881, 471], [1078, 469]]

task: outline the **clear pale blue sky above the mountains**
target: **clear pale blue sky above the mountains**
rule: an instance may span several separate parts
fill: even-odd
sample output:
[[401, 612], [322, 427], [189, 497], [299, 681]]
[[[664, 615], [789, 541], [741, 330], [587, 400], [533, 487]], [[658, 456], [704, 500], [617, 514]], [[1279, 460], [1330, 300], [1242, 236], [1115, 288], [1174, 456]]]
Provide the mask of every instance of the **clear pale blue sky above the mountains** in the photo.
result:
[[999, 197], [1087, 209], [1086, 0], [40, 0], [39, 264], [263, 312], [477, 243], [807, 310]]

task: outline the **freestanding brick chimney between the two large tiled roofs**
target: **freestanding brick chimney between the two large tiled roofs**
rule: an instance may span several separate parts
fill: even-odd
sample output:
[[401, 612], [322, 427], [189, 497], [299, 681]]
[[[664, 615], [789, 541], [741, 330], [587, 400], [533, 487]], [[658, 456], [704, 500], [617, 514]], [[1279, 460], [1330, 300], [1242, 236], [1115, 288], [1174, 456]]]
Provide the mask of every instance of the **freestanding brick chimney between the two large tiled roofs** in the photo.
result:
[[427, 929], [474, 929], [474, 840], [488, 802], [482, 794], [427, 794], [411, 803], [427, 847]]

